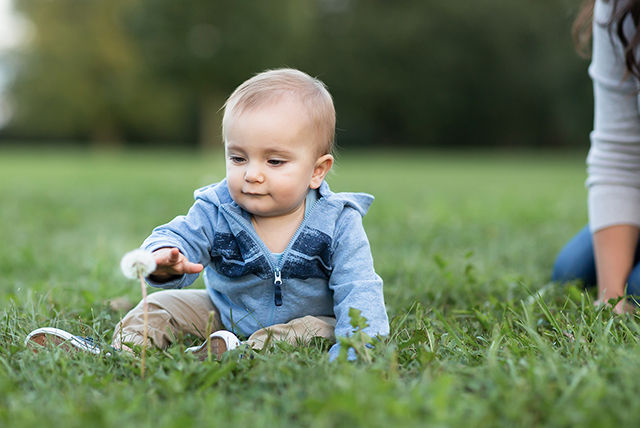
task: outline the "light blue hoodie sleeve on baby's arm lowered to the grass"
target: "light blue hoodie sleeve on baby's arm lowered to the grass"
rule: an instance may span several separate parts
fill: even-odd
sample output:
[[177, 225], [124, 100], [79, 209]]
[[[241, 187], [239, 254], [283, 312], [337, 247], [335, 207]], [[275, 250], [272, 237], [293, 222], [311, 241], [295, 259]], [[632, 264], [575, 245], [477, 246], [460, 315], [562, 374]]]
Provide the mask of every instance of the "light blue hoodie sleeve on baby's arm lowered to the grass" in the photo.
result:
[[[359, 309], [367, 319], [369, 326], [364, 331], [369, 336], [388, 335], [389, 319], [384, 305], [382, 279], [373, 268], [369, 240], [358, 211], [345, 209], [338, 220], [334, 242], [329, 288], [333, 291], [336, 337], [353, 333], [350, 308]], [[339, 353], [339, 343], [336, 343], [329, 350], [329, 359], [335, 360]], [[355, 354], [349, 352], [349, 359], [354, 358]]]

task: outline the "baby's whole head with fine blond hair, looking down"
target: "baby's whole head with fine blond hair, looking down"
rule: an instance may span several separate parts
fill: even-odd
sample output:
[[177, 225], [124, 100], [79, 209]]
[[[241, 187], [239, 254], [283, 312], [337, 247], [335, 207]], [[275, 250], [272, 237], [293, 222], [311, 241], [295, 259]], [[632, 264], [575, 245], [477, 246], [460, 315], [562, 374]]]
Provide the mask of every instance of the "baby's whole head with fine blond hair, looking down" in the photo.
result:
[[269, 70], [241, 84], [224, 107], [227, 183], [259, 217], [299, 213], [333, 165], [335, 109], [318, 79]]

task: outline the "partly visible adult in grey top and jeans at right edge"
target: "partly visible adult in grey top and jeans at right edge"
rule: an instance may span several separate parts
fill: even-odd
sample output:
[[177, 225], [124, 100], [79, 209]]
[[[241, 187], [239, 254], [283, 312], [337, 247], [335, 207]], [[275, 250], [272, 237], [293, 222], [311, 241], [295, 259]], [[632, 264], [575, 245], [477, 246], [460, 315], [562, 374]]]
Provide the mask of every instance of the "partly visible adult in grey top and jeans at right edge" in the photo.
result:
[[[596, 303], [612, 303], [617, 313], [640, 299], [639, 29], [640, 0], [588, 1], [574, 23], [578, 50], [592, 39], [589, 224], [560, 251], [552, 274], [558, 282], [597, 284]], [[625, 289], [629, 298], [621, 299]]]

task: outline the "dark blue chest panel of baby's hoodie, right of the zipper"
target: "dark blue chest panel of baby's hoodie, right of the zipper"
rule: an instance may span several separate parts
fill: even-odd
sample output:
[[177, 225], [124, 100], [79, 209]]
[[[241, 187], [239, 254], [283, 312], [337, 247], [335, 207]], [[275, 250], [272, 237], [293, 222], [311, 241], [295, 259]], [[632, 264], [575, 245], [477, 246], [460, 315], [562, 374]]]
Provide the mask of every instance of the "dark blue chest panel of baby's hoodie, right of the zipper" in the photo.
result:
[[317, 229], [304, 228], [286, 255], [282, 277], [329, 279], [331, 270], [331, 237]]

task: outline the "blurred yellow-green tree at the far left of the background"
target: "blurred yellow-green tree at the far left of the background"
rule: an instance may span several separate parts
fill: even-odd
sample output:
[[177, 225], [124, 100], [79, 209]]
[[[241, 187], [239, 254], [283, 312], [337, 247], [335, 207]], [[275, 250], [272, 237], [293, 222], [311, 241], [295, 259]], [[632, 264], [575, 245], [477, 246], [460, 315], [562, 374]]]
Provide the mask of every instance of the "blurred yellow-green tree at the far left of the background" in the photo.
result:
[[140, 61], [122, 18], [130, 0], [20, 0], [33, 28], [10, 87], [12, 132], [30, 137], [181, 138], [188, 111]]

